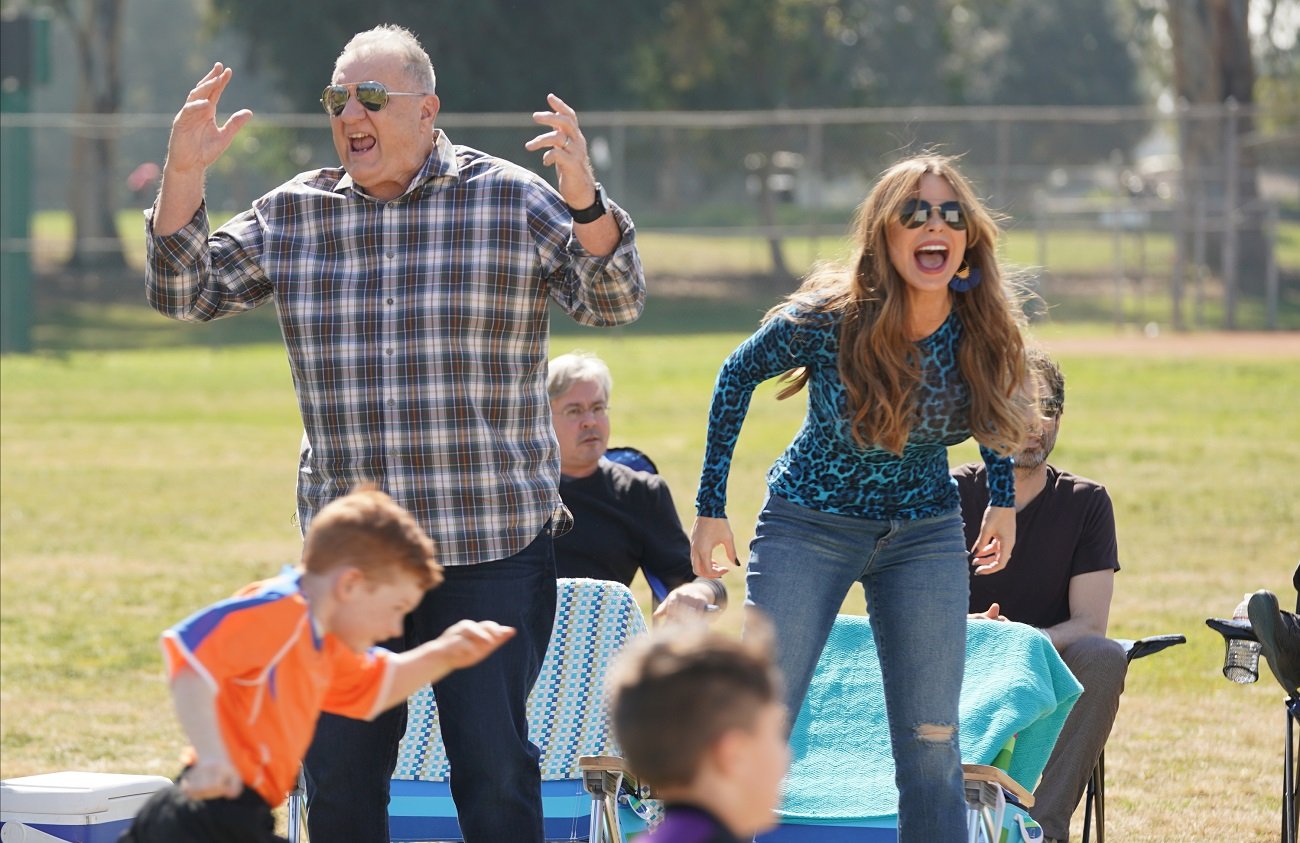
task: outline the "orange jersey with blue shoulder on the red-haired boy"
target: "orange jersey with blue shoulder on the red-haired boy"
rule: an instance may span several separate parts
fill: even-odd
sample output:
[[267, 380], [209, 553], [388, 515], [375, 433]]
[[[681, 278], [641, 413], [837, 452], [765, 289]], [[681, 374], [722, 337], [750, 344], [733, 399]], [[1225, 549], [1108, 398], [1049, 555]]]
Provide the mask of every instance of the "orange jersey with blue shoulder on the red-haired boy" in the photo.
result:
[[387, 650], [355, 653], [317, 630], [299, 576], [254, 583], [162, 634], [168, 676], [190, 667], [208, 683], [231, 762], [272, 807], [292, 790], [320, 713], [370, 719], [391, 683]]

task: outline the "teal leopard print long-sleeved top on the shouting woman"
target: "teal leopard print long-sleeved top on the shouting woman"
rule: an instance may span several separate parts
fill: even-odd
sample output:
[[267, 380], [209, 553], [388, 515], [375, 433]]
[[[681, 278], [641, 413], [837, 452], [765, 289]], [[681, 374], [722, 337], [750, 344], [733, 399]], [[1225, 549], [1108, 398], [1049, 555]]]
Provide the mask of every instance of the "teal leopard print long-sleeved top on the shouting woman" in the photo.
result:
[[[970, 438], [970, 390], [957, 349], [962, 323], [954, 311], [916, 342], [922, 384], [916, 421], [897, 457], [853, 441], [844, 385], [836, 367], [838, 315], [788, 311], [737, 347], [718, 372], [708, 412], [708, 441], [696, 511], [725, 518], [727, 476], [754, 388], [793, 368], [806, 367], [809, 408], [803, 427], [767, 472], [767, 485], [792, 503], [822, 513], [875, 520], [913, 520], [958, 507], [957, 484], [948, 474], [948, 448]], [[989, 503], [1015, 505], [1010, 457], [980, 446], [988, 466]]]

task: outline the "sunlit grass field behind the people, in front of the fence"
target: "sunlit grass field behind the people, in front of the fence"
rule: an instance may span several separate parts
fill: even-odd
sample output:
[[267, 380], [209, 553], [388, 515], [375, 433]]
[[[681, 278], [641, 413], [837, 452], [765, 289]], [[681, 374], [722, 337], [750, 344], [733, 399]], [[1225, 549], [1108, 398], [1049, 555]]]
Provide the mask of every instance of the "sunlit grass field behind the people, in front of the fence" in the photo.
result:
[[[1268, 674], [1225, 680], [1204, 618], [1261, 587], [1291, 600], [1300, 359], [1134, 355], [1106, 350], [1113, 332], [1044, 333], [1069, 349], [1054, 461], [1105, 481], [1115, 501], [1124, 570], [1112, 634], [1190, 641], [1130, 674], [1106, 752], [1110, 833], [1277, 839], [1280, 692]], [[711, 382], [742, 336], [584, 330], [552, 342], [610, 362], [614, 441], [654, 455], [688, 524]], [[159, 632], [298, 553], [300, 428], [283, 351], [69, 351], [3, 358], [0, 375], [0, 777], [170, 774], [182, 738]], [[801, 405], [770, 386], [754, 399], [731, 481], [741, 548]], [[968, 444], [953, 454], [972, 457]], [[744, 583], [728, 580], [738, 605]], [[861, 611], [861, 597], [846, 609]]]

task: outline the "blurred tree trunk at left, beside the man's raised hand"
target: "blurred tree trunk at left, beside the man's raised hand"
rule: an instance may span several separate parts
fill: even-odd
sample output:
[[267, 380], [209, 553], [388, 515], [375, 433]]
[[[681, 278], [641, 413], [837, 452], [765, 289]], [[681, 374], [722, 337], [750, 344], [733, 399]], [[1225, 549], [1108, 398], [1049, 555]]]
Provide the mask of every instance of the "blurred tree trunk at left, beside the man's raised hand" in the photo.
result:
[[[81, 92], [77, 108], [116, 114], [121, 107], [122, 12], [126, 0], [87, 0], [78, 21], [66, 3], [56, 4], [77, 39]], [[92, 127], [73, 138], [70, 207], [73, 251], [68, 265], [121, 269], [126, 265], [117, 232], [117, 144], [114, 130]]]

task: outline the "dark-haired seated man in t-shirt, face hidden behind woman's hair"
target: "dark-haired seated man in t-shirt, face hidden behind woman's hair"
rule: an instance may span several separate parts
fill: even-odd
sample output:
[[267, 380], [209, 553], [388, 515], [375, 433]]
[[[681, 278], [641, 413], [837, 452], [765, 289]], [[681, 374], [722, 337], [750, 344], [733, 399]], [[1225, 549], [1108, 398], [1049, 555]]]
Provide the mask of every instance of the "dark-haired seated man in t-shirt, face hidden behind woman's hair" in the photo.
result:
[[[1105, 487], [1048, 464], [1065, 410], [1065, 377], [1040, 350], [1028, 351], [1034, 381], [1024, 450], [1015, 455], [1015, 553], [996, 574], [971, 576], [971, 611], [1039, 627], [1083, 684], [1034, 791], [1030, 814], [1048, 840], [1067, 840], [1097, 756], [1119, 710], [1127, 658], [1106, 637], [1119, 570], [1115, 518]], [[953, 470], [966, 541], [974, 546], [988, 505], [980, 463]]]

